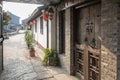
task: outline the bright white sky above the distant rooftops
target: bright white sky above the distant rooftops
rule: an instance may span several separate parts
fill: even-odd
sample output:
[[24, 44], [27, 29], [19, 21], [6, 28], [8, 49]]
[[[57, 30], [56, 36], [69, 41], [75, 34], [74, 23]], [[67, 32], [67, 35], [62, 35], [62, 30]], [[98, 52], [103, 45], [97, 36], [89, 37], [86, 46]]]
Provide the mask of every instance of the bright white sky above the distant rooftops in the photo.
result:
[[29, 17], [29, 15], [31, 15], [32, 12], [39, 6], [41, 6], [41, 5], [3, 1], [3, 10], [9, 11], [9, 12], [15, 14], [16, 16], [19, 16], [20, 23], [21, 23], [21, 20]]

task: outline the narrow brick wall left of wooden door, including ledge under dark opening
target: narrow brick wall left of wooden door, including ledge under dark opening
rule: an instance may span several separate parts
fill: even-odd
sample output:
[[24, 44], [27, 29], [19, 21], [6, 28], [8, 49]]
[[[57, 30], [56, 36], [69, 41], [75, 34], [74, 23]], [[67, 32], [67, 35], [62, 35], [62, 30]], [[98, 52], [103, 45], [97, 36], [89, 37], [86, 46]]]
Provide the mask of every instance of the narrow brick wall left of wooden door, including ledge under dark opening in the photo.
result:
[[70, 73], [70, 8], [65, 10], [65, 54], [60, 54], [62, 67]]

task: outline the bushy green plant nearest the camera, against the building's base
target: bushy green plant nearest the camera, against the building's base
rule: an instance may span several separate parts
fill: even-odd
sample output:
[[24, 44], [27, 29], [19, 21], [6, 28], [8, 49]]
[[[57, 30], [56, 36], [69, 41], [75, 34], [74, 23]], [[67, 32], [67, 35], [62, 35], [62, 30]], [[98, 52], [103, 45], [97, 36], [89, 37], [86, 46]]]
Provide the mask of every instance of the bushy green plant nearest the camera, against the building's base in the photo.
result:
[[46, 65], [46, 66], [47, 65], [50, 65], [50, 66], [59, 66], [60, 65], [59, 57], [54, 49], [46, 48], [44, 50], [44, 53], [45, 53], [45, 56], [42, 61], [43, 65]]

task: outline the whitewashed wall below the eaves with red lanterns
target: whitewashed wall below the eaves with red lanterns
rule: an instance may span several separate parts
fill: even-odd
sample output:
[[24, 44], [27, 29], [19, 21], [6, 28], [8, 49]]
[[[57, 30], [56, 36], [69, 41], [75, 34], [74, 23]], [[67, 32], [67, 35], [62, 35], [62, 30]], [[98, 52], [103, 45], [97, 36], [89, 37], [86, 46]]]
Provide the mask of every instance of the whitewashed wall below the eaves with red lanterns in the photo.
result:
[[[55, 16], [55, 15], [54, 15]], [[35, 32], [35, 24], [33, 25], [35, 40], [44, 48], [47, 48], [47, 21], [43, 20], [43, 34], [40, 33], [40, 16], [37, 20], [37, 32]], [[56, 50], [56, 31], [55, 17], [48, 20], [48, 47]]]

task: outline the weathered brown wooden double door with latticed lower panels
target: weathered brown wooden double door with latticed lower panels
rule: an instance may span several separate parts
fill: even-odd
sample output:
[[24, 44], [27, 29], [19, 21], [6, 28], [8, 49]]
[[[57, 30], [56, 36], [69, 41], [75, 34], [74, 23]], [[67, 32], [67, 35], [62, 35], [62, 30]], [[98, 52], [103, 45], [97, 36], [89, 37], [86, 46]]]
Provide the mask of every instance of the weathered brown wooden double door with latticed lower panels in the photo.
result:
[[75, 64], [82, 80], [100, 80], [100, 7], [76, 9]]

